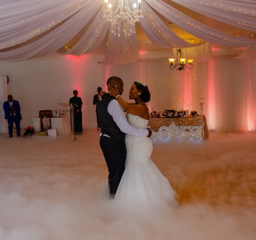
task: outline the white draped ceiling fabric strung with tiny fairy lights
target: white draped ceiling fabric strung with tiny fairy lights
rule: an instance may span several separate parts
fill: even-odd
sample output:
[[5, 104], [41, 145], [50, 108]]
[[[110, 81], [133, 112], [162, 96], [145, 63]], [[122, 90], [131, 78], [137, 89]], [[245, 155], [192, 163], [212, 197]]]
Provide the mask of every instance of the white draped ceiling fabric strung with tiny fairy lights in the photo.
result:
[[[135, 0], [127, 0], [132, 6]], [[112, 2], [115, 8], [114, 0]], [[106, 64], [133, 63], [139, 58], [138, 34], [110, 33], [103, 19], [104, 0], [1, 0], [0, 60], [21, 61], [58, 53], [83, 55], [104, 51]], [[142, 0], [144, 18], [136, 23], [149, 42], [163, 49], [256, 46], [255, 0]], [[195, 36], [184, 40], [173, 23]]]

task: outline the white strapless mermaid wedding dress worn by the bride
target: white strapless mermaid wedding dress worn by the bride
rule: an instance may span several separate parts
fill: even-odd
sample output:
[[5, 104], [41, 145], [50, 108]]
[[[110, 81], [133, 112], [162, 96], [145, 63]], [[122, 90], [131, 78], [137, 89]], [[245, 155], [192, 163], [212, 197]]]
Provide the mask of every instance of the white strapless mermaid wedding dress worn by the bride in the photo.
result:
[[[127, 113], [129, 123], [148, 128], [148, 120]], [[153, 144], [146, 136], [125, 136], [127, 158], [114, 205], [127, 215], [159, 213], [177, 205], [176, 192], [151, 160]]]

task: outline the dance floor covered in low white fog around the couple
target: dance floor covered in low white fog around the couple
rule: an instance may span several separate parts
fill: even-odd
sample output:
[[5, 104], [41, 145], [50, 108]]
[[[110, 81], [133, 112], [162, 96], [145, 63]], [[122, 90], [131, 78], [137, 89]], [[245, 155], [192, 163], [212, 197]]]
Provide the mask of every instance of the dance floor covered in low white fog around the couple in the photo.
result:
[[0, 239], [256, 239], [255, 132], [153, 145], [152, 160], [180, 204], [168, 216], [124, 221], [106, 207], [99, 132], [76, 140], [0, 134]]

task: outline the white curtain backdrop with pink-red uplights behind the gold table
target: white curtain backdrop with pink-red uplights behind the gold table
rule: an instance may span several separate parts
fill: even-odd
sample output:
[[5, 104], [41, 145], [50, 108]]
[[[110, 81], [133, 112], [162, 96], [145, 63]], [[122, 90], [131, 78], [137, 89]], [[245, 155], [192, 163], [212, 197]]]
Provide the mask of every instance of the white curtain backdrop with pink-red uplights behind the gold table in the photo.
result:
[[[199, 46], [202, 54], [208, 48]], [[200, 59], [200, 56], [198, 59]], [[132, 83], [146, 82], [152, 98], [150, 112], [196, 110], [204, 98], [208, 128], [221, 132], [256, 130], [256, 60], [255, 58], [212, 58], [197, 60], [192, 69], [170, 70], [167, 59], [141, 60], [129, 65], [106, 67], [106, 79], [120, 76], [124, 80], [123, 97]]]

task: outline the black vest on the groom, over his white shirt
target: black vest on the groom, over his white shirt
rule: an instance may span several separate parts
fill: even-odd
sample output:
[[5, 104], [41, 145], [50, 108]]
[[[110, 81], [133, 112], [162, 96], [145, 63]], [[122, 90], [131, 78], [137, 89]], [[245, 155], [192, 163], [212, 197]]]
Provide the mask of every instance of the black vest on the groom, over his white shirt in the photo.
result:
[[124, 140], [125, 134], [121, 132], [112, 115], [108, 113], [108, 104], [113, 99], [114, 97], [105, 93], [102, 100], [97, 102], [96, 113], [101, 126], [101, 133], [110, 136], [110, 138]]

